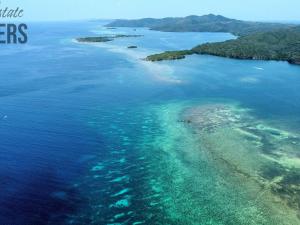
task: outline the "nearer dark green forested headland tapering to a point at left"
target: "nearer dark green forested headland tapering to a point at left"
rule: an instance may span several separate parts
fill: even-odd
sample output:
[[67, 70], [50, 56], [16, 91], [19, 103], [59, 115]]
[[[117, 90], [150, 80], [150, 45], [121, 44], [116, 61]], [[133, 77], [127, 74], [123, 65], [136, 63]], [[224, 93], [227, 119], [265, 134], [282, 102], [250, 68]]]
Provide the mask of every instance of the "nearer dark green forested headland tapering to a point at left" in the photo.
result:
[[199, 45], [187, 51], [151, 55], [147, 59], [151, 61], [182, 59], [190, 54], [209, 54], [236, 59], [283, 60], [300, 65], [300, 27], [259, 32], [236, 40]]

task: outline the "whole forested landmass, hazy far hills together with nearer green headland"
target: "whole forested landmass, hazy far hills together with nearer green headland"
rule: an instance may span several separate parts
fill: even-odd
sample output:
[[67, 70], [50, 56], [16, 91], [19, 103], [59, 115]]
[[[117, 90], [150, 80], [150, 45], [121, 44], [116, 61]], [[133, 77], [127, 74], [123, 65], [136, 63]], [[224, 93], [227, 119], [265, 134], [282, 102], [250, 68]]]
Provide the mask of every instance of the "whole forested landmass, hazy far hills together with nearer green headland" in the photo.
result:
[[220, 15], [184, 18], [116, 20], [109, 27], [149, 27], [168, 32], [229, 32], [235, 40], [206, 43], [190, 50], [150, 55], [148, 61], [183, 59], [191, 54], [209, 54], [236, 59], [283, 60], [300, 64], [300, 26], [295, 24], [249, 22]]

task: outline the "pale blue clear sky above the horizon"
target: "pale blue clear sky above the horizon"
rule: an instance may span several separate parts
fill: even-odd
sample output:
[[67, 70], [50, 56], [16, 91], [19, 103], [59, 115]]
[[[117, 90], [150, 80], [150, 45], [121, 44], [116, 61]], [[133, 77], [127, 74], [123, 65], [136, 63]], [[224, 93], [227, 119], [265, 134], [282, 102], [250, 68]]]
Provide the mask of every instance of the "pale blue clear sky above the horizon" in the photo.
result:
[[[256, 21], [300, 21], [300, 0], [0, 0], [24, 20], [60, 21], [219, 14]], [[0, 18], [1, 20], [1, 18]]]

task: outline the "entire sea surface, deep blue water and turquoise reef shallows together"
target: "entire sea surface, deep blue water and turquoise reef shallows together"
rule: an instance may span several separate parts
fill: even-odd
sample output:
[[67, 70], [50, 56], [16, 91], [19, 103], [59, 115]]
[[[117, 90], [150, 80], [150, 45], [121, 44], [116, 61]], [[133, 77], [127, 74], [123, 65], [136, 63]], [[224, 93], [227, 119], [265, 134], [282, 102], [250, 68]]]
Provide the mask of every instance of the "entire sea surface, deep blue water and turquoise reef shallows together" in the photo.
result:
[[[299, 222], [300, 67], [141, 60], [234, 38], [223, 33], [100, 22], [30, 32], [28, 45], [0, 53], [1, 223]], [[112, 33], [144, 36], [73, 41]]]

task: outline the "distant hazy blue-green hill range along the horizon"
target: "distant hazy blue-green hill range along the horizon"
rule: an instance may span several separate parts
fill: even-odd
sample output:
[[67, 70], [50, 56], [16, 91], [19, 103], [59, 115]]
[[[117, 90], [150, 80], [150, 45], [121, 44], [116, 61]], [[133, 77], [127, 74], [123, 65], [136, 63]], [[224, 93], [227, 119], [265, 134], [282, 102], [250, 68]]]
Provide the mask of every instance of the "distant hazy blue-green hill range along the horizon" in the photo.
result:
[[280, 23], [248, 22], [229, 19], [220, 15], [187, 16], [184, 18], [115, 20], [107, 27], [149, 27], [166, 32], [228, 32], [238, 36], [272, 31], [295, 25]]

